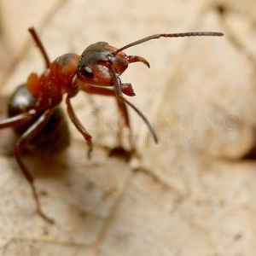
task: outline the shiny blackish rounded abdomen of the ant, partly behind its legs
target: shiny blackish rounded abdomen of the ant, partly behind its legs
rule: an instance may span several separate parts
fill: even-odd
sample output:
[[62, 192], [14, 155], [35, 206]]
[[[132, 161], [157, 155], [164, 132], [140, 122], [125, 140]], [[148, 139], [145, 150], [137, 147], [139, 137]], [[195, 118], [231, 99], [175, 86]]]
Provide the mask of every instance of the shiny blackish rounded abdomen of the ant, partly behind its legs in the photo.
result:
[[[9, 99], [8, 115], [13, 117], [19, 113], [25, 113], [34, 108], [37, 99], [32, 93], [26, 89], [26, 84], [21, 84], [15, 93]], [[29, 127], [34, 124], [42, 113], [38, 113], [33, 119], [16, 125], [13, 129], [15, 135], [20, 137]], [[44, 152], [46, 154], [58, 153], [70, 144], [70, 132], [67, 120], [60, 107], [55, 108], [48, 122], [44, 127], [32, 138], [26, 149]]]

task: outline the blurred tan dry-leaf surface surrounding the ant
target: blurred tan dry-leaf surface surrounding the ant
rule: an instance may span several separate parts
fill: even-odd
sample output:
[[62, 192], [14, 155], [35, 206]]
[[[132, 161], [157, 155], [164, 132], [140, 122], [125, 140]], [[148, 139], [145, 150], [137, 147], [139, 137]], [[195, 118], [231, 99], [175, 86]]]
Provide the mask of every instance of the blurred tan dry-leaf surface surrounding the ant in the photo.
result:
[[155, 145], [131, 110], [140, 158], [129, 163], [108, 157], [106, 148], [117, 144], [113, 99], [83, 93], [73, 99], [94, 137], [93, 160], [73, 125], [64, 157], [26, 156], [55, 225], [38, 217], [15, 160], [0, 154], [0, 254], [253, 255], [255, 10], [253, 0], [2, 0], [2, 118], [15, 88], [44, 70], [30, 26], [51, 60], [97, 41], [121, 47], [159, 32], [224, 37], [161, 38], [125, 50], [151, 64], [132, 64], [121, 79], [133, 85], [131, 102], [160, 138]]

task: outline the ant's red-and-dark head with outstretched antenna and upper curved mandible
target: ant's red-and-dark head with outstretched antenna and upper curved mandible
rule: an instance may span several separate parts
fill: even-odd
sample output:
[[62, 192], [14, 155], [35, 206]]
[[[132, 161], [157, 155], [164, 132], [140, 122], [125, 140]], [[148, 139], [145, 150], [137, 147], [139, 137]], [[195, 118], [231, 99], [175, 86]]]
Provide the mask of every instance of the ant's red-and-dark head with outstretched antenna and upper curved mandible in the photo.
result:
[[[126, 55], [124, 49], [130, 48], [137, 44], [143, 44], [152, 39], [158, 38], [180, 38], [195, 36], [223, 36], [220, 32], [184, 32], [184, 33], [165, 33], [155, 34], [146, 38], [139, 39], [131, 44], [117, 49], [108, 43], [98, 42], [90, 44], [80, 56], [79, 64], [76, 70], [79, 80], [87, 84], [101, 86], [113, 86], [114, 70], [117, 76], [125, 71], [132, 62], [143, 62], [149, 67], [148, 61], [143, 57]], [[113, 68], [113, 69], [112, 69]]]

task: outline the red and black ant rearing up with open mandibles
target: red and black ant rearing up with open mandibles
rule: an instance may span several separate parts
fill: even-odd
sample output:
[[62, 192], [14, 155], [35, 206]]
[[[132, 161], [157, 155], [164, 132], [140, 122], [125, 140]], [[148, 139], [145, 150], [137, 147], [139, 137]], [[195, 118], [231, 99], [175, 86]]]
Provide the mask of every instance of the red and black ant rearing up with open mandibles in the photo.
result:
[[148, 119], [123, 96], [124, 94], [135, 96], [131, 84], [121, 83], [119, 79], [130, 63], [138, 61], [147, 67], [149, 63], [141, 56], [126, 55], [124, 50], [157, 38], [223, 36], [221, 32], [160, 33], [141, 38], [119, 49], [108, 43], [98, 42], [90, 44], [84, 49], [82, 55], [67, 53], [50, 62], [35, 29], [31, 27], [28, 31], [44, 57], [46, 69], [41, 75], [31, 73], [26, 84], [20, 85], [15, 90], [9, 100], [9, 118], [0, 121], [0, 129], [12, 127], [19, 137], [14, 147], [15, 160], [31, 185], [38, 214], [49, 223], [53, 223], [53, 220], [42, 211], [32, 174], [22, 161], [21, 153], [27, 147], [38, 149], [43, 153], [57, 152], [67, 148], [69, 131], [64, 114], [59, 108], [63, 96], [66, 99], [69, 118], [88, 145], [89, 157], [93, 146], [92, 137], [79, 121], [71, 104], [71, 98], [76, 96], [79, 90], [90, 94], [114, 96], [123, 118], [123, 127], [127, 127], [130, 132], [131, 125], [126, 104], [133, 108], [148, 126], [154, 142], [158, 143], [158, 138]]

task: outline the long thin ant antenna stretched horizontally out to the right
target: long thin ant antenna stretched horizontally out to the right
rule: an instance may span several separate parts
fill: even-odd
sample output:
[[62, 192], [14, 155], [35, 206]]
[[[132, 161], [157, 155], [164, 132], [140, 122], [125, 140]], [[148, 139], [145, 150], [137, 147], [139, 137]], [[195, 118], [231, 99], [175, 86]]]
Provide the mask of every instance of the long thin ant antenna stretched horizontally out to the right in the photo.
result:
[[126, 44], [125, 46], [117, 49], [113, 54], [117, 55], [120, 51], [130, 48], [137, 44], [143, 44], [149, 40], [152, 39], [158, 39], [158, 38], [184, 38], [184, 37], [222, 37], [224, 36], [224, 33], [222, 32], [182, 32], [182, 33], [163, 33], [163, 34], [154, 34], [151, 36], [148, 36], [146, 38], [141, 38], [135, 42], [132, 42], [130, 44]]

